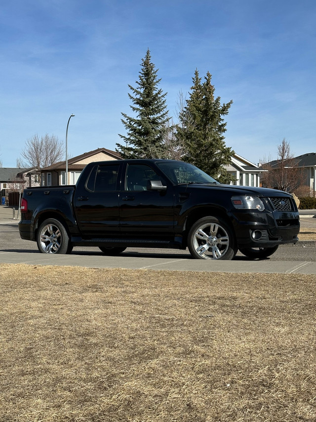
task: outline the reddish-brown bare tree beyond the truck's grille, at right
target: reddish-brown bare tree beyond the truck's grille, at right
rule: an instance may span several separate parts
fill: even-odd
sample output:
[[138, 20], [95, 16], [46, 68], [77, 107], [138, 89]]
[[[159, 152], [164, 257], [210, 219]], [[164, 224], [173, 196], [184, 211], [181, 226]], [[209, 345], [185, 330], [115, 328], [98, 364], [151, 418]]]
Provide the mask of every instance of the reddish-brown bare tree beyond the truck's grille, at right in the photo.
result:
[[294, 154], [290, 151], [289, 142], [281, 141], [277, 146], [277, 159], [262, 164], [262, 185], [267, 188], [276, 188], [286, 192], [293, 192], [302, 185], [303, 169], [298, 167]]

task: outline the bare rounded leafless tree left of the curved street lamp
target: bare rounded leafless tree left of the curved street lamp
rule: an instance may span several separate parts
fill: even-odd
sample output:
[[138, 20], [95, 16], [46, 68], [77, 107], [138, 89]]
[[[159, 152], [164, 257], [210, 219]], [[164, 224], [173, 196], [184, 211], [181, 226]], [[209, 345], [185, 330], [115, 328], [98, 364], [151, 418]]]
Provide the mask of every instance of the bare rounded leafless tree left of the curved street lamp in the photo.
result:
[[[64, 156], [64, 144], [55, 135], [39, 137], [35, 134], [26, 141], [25, 148], [21, 152], [25, 167], [36, 167], [41, 170], [58, 161]], [[22, 164], [22, 163], [21, 163]]]

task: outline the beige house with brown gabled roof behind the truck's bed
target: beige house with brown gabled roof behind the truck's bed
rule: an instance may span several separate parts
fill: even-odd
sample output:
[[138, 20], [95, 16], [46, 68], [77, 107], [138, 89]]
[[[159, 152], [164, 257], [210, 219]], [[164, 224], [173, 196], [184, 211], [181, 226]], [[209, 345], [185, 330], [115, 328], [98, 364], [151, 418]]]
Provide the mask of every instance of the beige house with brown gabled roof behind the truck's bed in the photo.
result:
[[68, 159], [68, 177], [66, 179], [66, 161], [60, 161], [45, 167], [41, 171], [42, 186], [76, 185], [83, 168], [93, 161], [121, 160], [120, 154], [111, 149], [98, 148]]

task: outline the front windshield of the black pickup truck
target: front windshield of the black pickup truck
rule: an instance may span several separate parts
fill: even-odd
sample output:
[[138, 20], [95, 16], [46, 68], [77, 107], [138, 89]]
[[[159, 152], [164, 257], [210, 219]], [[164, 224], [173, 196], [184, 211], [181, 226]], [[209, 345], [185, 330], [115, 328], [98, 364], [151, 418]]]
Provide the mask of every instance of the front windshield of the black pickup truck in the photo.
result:
[[157, 163], [163, 173], [175, 184], [218, 183], [208, 174], [183, 161], [162, 161]]

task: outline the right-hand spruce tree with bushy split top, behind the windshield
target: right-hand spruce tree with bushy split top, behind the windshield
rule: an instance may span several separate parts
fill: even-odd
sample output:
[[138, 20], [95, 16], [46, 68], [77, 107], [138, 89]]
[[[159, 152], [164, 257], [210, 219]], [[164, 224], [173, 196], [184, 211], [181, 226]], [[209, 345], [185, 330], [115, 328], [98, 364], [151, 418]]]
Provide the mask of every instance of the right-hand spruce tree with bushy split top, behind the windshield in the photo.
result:
[[228, 183], [232, 178], [223, 166], [230, 164], [234, 151], [225, 145], [226, 122], [222, 116], [228, 114], [233, 101], [221, 105], [221, 98], [214, 97], [211, 78], [207, 72], [202, 83], [195, 71], [190, 97], [179, 113], [177, 137], [186, 147], [183, 157], [186, 161], [220, 182]]

